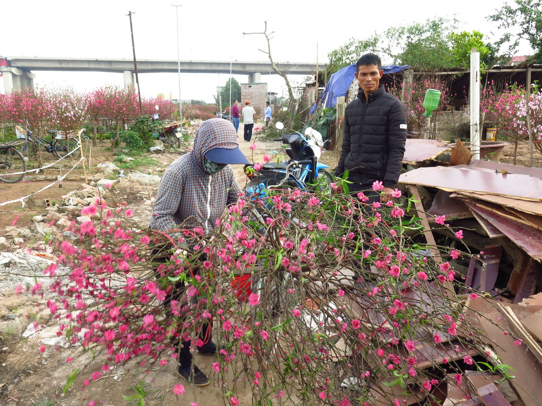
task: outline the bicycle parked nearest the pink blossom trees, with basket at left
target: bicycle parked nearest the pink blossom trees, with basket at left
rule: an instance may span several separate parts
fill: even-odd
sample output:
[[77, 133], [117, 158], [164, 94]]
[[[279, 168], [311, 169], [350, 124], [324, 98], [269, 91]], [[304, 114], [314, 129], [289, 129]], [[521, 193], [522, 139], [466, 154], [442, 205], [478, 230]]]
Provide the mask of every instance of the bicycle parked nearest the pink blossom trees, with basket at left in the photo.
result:
[[[79, 158], [81, 156], [81, 148], [79, 148], [79, 142], [77, 141], [77, 136], [74, 134], [62, 134], [57, 130], [49, 130], [48, 133], [51, 134], [50, 140], [45, 140], [42, 137], [32, 134], [29, 129], [26, 132], [19, 126], [15, 127], [17, 138], [25, 139], [26, 142], [23, 142], [21, 145], [21, 151], [25, 152], [28, 145], [38, 146], [41, 145], [49, 154], [53, 154], [58, 158], [64, 158], [72, 151], [72, 156], [74, 158]], [[81, 135], [84, 135], [85, 129], [79, 130]], [[67, 140], [66, 140], [67, 139]]]

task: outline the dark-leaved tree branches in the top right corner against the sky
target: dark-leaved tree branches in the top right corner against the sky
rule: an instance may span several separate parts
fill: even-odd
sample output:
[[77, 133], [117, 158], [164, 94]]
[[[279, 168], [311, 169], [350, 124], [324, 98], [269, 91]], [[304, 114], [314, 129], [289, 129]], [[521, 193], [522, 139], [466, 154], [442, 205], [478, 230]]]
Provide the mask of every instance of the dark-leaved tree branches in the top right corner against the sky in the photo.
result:
[[495, 11], [487, 19], [498, 23], [497, 28], [506, 30], [496, 45], [509, 44], [506, 52], [512, 56], [519, 41], [527, 40], [534, 50], [535, 62], [542, 62], [542, 1], [515, 0], [515, 6], [505, 3]]

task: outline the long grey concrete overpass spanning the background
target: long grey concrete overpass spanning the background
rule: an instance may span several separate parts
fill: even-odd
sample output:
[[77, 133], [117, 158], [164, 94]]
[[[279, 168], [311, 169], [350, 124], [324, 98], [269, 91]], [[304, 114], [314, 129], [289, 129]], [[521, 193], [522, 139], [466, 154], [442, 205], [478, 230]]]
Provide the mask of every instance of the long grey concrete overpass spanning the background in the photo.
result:
[[[315, 63], [275, 62], [279, 70], [288, 74], [312, 75], [316, 73]], [[182, 73], [225, 73], [249, 75], [248, 82], [261, 82], [261, 73], [274, 74], [270, 62], [242, 61], [180, 61]], [[178, 61], [139, 60], [138, 73], [177, 73]], [[36, 75], [31, 71], [79, 71], [118, 72], [124, 75], [125, 86], [134, 85], [134, 62], [131, 59], [91, 58], [38, 58], [0, 56], [0, 73], [4, 78], [6, 93], [23, 87], [34, 88]]]

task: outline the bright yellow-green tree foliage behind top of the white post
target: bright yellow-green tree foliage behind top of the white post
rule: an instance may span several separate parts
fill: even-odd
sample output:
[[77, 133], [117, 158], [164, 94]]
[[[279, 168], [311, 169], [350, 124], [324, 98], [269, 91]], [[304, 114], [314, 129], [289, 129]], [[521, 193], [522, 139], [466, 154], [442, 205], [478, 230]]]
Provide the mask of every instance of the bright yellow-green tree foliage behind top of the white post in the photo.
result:
[[487, 68], [494, 60], [495, 53], [491, 45], [483, 42], [483, 34], [479, 31], [451, 32], [451, 54], [454, 66], [457, 68], [469, 69], [470, 53], [473, 48], [480, 53], [480, 68]]

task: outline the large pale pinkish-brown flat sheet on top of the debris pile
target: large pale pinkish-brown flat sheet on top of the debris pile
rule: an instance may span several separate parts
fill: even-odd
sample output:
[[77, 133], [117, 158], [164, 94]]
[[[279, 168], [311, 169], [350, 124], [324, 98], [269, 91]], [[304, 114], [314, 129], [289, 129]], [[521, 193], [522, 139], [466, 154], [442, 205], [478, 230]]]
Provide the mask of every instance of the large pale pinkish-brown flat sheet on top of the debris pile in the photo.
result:
[[467, 166], [418, 168], [399, 177], [403, 184], [432, 186], [448, 192], [474, 192], [542, 201], [542, 179], [468, 169]]

